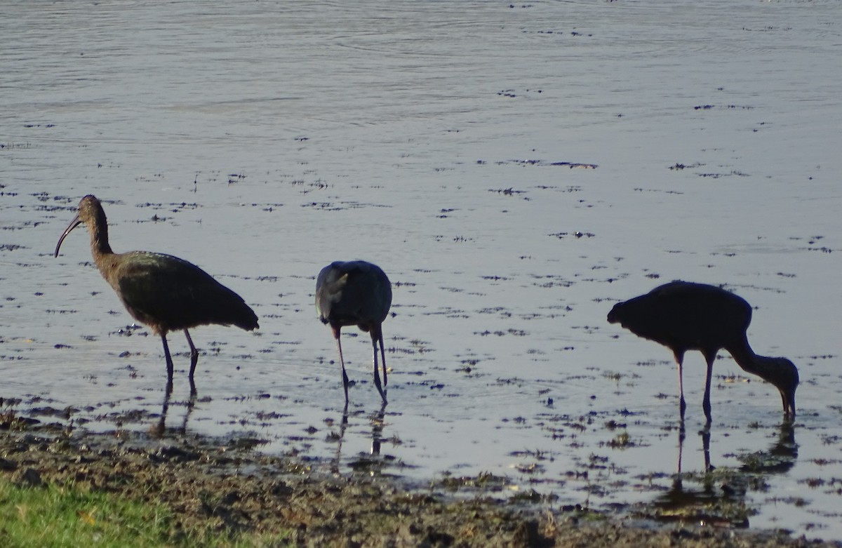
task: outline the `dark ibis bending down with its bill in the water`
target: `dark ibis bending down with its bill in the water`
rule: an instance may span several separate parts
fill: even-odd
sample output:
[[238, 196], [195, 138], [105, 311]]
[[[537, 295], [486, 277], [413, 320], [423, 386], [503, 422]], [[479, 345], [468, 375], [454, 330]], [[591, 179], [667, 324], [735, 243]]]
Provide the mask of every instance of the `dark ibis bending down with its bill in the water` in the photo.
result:
[[703, 407], [707, 424], [710, 424], [711, 371], [720, 348], [731, 353], [743, 370], [775, 385], [781, 391], [785, 417], [795, 418], [798, 370], [789, 359], [754, 354], [746, 338], [751, 306], [737, 295], [713, 285], [674, 281], [660, 285], [646, 295], [616, 304], [608, 314], [608, 321], [619, 322], [632, 333], [673, 351], [679, 364], [682, 423], [686, 404], [681, 366], [685, 352], [699, 350], [707, 361]]

